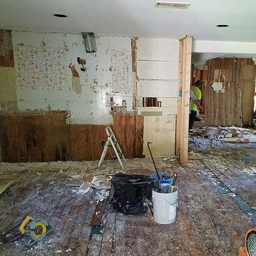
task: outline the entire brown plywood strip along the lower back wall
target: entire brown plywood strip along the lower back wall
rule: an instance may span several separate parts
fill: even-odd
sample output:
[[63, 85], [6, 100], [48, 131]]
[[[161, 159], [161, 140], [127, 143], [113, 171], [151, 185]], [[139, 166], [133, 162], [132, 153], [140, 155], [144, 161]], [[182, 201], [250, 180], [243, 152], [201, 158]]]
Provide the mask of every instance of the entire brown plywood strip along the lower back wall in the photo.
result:
[[[99, 160], [108, 139], [106, 125], [69, 125], [64, 114], [5, 115], [0, 125], [4, 162]], [[125, 158], [143, 157], [143, 117], [116, 115], [111, 127]]]

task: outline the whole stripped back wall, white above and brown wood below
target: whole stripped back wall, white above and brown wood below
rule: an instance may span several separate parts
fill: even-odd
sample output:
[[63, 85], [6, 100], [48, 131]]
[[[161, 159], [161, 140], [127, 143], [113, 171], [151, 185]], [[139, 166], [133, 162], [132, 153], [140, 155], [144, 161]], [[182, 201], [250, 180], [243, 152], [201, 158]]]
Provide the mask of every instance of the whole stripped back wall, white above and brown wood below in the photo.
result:
[[[155, 155], [174, 154], [176, 41], [104, 35], [95, 41], [97, 52], [86, 53], [81, 34], [12, 31], [14, 67], [8, 82], [1, 77], [1, 89], [11, 84], [16, 113], [2, 111], [0, 118], [4, 161], [98, 160], [108, 125], [126, 158], [147, 155], [152, 132]], [[145, 92], [157, 93], [161, 116], [142, 106]]]

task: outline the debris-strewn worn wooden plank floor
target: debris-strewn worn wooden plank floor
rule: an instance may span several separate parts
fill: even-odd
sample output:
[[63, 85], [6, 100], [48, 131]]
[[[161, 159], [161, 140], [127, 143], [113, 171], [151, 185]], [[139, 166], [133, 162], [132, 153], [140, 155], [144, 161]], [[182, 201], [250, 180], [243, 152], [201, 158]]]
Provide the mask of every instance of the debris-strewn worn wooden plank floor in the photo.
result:
[[[238, 171], [234, 174], [207, 174], [214, 174], [234, 193], [241, 194], [255, 206], [255, 175], [242, 172], [248, 156], [253, 161], [255, 148], [220, 148], [218, 143], [206, 142], [208, 146], [197, 141], [198, 145], [201, 144], [200, 148], [190, 143], [190, 150], [204, 152], [205, 159], [193, 160], [187, 168], [176, 168], [178, 161], [155, 159], [159, 170], [174, 168], [178, 174], [177, 216], [176, 221], [168, 225], [154, 222], [146, 213], [139, 216], [119, 214], [107, 202], [102, 225], [92, 228], [90, 224], [99, 196], [95, 190], [90, 190], [86, 195], [76, 194], [66, 185], [68, 178], [65, 176], [80, 174], [83, 177], [84, 174], [93, 173], [98, 161], [2, 163], [2, 174], [9, 173], [15, 179], [10, 186], [14, 196], [8, 197], [6, 193], [0, 196], [1, 234], [19, 224], [28, 211], [45, 202], [39, 190], [46, 196], [47, 203], [29, 215], [34, 218], [59, 215], [64, 222], [44, 240], [29, 248], [21, 240], [13, 243], [1, 240], [0, 255], [238, 255], [239, 247], [244, 246], [247, 230], [256, 224], [229, 194], [216, 188], [207, 178], [207, 171], [196, 167]], [[152, 170], [145, 168], [143, 161], [150, 163], [151, 159], [129, 159], [124, 165], [125, 172], [151, 175]], [[99, 173], [121, 170], [118, 161], [104, 161], [101, 167]], [[59, 179], [48, 183], [55, 178]], [[60, 223], [57, 217], [48, 217], [47, 221], [53, 227]]]

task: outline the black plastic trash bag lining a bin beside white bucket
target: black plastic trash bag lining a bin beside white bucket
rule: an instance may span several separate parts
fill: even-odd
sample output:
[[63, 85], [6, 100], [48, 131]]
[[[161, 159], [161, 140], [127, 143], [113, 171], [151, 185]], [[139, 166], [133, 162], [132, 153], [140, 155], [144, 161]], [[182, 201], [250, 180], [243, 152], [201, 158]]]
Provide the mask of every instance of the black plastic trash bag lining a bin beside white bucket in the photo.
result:
[[111, 205], [123, 214], [142, 214], [146, 209], [143, 198], [152, 199], [155, 181], [146, 175], [114, 175], [111, 179]]

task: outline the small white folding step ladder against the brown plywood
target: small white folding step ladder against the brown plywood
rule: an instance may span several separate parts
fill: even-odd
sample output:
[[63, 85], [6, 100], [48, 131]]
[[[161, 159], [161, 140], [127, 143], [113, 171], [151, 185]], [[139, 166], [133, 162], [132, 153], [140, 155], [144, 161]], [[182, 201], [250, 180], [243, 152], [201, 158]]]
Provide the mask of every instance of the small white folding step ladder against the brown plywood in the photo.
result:
[[[105, 158], [105, 155], [106, 155], [106, 152], [108, 151], [108, 149], [110, 150], [109, 147], [113, 147], [113, 149], [114, 149], [114, 151], [115, 151], [115, 153], [112, 155], [111, 150], [110, 150], [110, 153], [111, 153], [111, 155], [112, 155], [112, 159], [118, 159], [118, 161], [119, 161], [119, 163], [120, 163], [122, 169], [124, 169], [123, 163], [122, 163], [122, 161], [121, 161], [121, 157], [123, 158], [123, 161], [124, 161], [125, 163], [126, 163], [126, 160], [125, 160], [125, 158], [124, 158], [124, 156], [123, 156], [123, 153], [122, 153], [122, 151], [121, 151], [121, 148], [120, 148], [120, 146], [119, 146], [119, 144], [118, 144], [118, 142], [117, 142], [117, 139], [116, 139], [116, 137], [115, 137], [115, 135], [114, 135], [114, 133], [113, 133], [113, 131], [112, 131], [112, 129], [111, 129], [110, 126], [106, 127], [106, 134], [108, 134], [108, 139], [106, 140], [106, 143], [105, 143], [105, 145], [104, 145], [104, 150], [103, 150], [103, 152], [102, 152], [102, 155], [101, 155], [101, 158], [100, 158], [100, 160], [99, 160], [99, 164], [98, 164], [98, 166], [97, 166], [96, 171], [99, 169], [100, 164], [103, 162], [103, 160], [104, 160], [104, 158]], [[118, 150], [118, 151], [117, 151], [117, 150]]]

